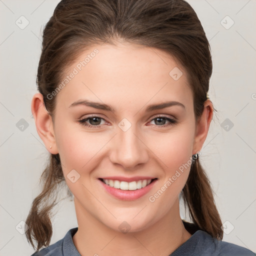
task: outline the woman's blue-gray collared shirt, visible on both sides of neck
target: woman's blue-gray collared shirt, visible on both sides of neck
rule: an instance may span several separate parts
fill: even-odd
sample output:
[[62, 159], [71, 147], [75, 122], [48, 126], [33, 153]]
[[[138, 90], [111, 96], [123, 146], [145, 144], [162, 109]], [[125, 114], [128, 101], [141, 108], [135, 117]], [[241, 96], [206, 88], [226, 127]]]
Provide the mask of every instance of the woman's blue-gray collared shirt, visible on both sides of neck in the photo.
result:
[[[184, 222], [183, 222], [184, 223]], [[81, 256], [74, 246], [72, 236], [78, 227], [71, 228], [57, 242], [34, 252], [31, 256]], [[233, 243], [212, 238], [207, 232], [195, 231], [169, 256], [255, 256], [256, 253]], [[154, 255], [157, 256], [157, 255]]]

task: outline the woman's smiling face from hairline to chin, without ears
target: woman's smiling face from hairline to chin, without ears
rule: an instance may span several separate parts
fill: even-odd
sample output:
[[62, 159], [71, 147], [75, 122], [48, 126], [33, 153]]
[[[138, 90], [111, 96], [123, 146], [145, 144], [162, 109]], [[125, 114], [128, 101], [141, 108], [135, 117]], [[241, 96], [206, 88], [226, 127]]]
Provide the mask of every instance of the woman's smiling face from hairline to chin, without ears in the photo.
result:
[[[192, 153], [201, 148], [182, 66], [155, 48], [103, 44], [84, 51], [66, 75], [54, 95], [53, 128], [77, 218], [136, 231], [178, 214]], [[153, 182], [139, 188], [143, 179]]]

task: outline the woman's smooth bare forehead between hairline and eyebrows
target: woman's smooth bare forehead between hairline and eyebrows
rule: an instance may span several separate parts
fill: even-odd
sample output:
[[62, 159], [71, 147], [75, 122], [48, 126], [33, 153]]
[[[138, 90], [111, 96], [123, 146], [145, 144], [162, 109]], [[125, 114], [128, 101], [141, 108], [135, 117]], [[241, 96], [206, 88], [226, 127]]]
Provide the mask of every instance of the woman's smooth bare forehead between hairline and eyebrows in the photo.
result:
[[69, 78], [57, 101], [66, 107], [83, 96], [111, 105], [171, 99], [192, 103], [186, 70], [170, 54], [156, 48], [95, 44], [82, 51], [65, 73]]

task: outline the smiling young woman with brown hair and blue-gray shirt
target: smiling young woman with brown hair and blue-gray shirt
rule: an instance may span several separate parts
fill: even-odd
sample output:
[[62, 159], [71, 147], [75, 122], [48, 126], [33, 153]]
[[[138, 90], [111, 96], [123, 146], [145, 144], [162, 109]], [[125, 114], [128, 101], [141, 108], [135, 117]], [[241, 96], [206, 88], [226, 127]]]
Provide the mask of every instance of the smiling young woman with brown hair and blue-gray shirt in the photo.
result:
[[[184, 0], [58, 3], [31, 102], [50, 152], [26, 219], [33, 255], [255, 255], [221, 241], [199, 162], [214, 109], [211, 72], [207, 38]], [[78, 227], [49, 245], [61, 184]]]

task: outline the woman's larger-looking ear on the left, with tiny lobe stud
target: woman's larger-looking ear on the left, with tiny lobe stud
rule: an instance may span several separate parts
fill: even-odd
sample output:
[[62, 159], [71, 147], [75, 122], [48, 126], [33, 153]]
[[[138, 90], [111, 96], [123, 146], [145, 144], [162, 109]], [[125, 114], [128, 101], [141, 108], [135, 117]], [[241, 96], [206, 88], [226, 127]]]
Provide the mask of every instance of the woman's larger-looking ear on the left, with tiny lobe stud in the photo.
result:
[[34, 117], [37, 133], [42, 139], [46, 149], [52, 154], [57, 154], [58, 150], [55, 141], [52, 118], [44, 106], [43, 96], [41, 93], [33, 95], [31, 111]]

